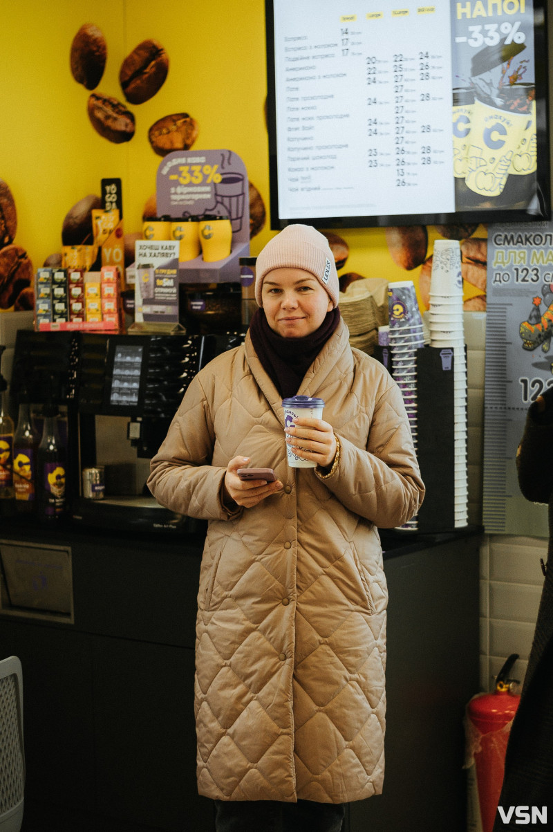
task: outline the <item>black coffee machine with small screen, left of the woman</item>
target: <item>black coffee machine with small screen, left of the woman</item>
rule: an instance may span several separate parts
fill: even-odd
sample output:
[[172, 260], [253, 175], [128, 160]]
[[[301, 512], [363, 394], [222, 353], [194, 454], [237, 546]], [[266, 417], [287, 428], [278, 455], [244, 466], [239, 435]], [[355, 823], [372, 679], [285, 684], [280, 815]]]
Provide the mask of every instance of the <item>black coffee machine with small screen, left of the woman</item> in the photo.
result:
[[[195, 374], [243, 339], [240, 332], [17, 333], [12, 407], [17, 412], [23, 388], [31, 393], [37, 416], [49, 398], [61, 406], [73, 521], [156, 532], [197, 530], [199, 523], [152, 497], [146, 486], [150, 460]], [[86, 488], [91, 470], [102, 475], [101, 493]]]

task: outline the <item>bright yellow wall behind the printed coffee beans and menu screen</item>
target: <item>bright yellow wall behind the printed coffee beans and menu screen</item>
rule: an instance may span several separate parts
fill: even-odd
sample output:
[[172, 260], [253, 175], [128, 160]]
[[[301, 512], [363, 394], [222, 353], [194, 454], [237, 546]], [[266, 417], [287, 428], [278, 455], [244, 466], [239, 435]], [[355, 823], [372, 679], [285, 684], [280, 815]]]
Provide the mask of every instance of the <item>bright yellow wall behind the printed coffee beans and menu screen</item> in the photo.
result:
[[[70, 72], [72, 39], [85, 22], [100, 27], [107, 41], [106, 70], [95, 92], [124, 102], [119, 68], [142, 40], [155, 38], [169, 55], [160, 92], [129, 105], [136, 133], [126, 144], [112, 144], [92, 128], [89, 92]], [[141, 229], [161, 161], [147, 132], [173, 112], [186, 111], [198, 122], [195, 149], [228, 147], [241, 156], [269, 212], [264, 0], [2, 0], [0, 43], [0, 178], [16, 201], [15, 242], [35, 268], [60, 250], [67, 210], [87, 194], [99, 195], [102, 177], [121, 177], [125, 230]], [[431, 254], [436, 233], [428, 230]], [[268, 220], [252, 240], [253, 255], [273, 233]], [[382, 229], [339, 234], [350, 246], [345, 271], [417, 280], [418, 269], [405, 272], [393, 264]]]

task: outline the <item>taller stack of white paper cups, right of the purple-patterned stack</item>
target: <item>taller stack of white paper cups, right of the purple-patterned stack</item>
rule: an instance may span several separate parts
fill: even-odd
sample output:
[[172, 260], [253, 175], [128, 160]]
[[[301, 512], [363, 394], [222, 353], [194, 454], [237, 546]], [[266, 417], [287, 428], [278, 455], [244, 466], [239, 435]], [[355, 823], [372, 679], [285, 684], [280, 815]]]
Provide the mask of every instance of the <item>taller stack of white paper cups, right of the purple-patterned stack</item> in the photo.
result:
[[432, 254], [430, 345], [451, 360], [454, 375], [455, 526], [468, 522], [467, 358], [462, 311], [461, 249], [457, 240], [436, 240]]

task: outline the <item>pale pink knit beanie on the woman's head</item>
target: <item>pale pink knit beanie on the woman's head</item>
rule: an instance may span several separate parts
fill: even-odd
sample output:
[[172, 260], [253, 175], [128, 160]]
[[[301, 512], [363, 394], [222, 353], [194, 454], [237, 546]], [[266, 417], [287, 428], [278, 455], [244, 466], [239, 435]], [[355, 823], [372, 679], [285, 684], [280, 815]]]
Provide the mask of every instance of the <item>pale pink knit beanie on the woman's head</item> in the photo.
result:
[[328, 292], [334, 309], [338, 306], [340, 287], [334, 256], [328, 240], [311, 225], [287, 225], [269, 240], [255, 263], [255, 300], [261, 302], [265, 275], [273, 269], [304, 269], [317, 278]]

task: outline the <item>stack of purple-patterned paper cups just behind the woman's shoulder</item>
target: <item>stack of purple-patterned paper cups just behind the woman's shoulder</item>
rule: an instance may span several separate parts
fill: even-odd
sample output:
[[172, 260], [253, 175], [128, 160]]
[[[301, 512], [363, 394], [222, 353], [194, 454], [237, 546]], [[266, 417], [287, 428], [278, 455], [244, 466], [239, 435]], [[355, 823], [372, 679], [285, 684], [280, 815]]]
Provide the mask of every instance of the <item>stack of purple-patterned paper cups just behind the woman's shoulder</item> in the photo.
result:
[[[412, 440], [417, 448], [417, 349], [424, 342], [422, 318], [412, 280], [402, 280], [388, 286], [388, 313], [392, 375], [402, 391]], [[416, 529], [417, 517], [400, 528]]]

